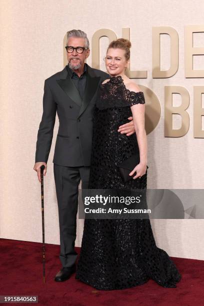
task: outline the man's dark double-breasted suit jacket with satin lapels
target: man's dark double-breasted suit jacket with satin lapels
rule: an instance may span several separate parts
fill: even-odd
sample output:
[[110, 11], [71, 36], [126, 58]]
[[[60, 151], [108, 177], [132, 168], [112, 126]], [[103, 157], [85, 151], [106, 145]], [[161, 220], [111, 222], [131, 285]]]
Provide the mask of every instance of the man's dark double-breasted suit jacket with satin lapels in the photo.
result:
[[109, 78], [107, 73], [87, 65], [82, 99], [68, 75], [66, 66], [62, 71], [45, 79], [35, 162], [47, 162], [57, 112], [59, 127], [52, 162], [64, 166], [90, 165], [93, 108], [99, 84], [106, 78]]

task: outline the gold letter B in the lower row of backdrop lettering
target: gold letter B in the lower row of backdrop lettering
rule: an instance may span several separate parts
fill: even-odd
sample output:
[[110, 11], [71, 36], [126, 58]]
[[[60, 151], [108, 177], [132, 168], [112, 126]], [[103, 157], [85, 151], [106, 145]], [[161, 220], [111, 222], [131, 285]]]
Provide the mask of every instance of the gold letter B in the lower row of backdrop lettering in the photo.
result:
[[[179, 93], [181, 95], [181, 105], [172, 106], [172, 94]], [[184, 136], [189, 129], [189, 114], [186, 109], [189, 106], [189, 93], [181, 86], [164, 86], [164, 136], [165, 137], [181, 137]], [[173, 114], [181, 116], [181, 127], [173, 129]]]

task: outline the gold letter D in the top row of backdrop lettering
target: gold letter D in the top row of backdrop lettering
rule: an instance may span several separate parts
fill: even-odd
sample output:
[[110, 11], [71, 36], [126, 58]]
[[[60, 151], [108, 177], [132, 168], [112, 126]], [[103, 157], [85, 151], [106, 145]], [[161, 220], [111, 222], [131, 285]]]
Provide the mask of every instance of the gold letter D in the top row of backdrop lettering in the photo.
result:
[[[168, 70], [160, 69], [160, 34], [170, 36], [170, 67]], [[178, 69], [178, 33], [170, 26], [152, 27], [152, 77], [170, 77]]]

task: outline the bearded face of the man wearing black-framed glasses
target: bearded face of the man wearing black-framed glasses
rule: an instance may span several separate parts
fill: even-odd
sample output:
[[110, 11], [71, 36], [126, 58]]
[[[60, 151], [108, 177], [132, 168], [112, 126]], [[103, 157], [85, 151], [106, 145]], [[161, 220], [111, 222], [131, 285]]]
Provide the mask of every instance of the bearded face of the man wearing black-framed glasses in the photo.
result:
[[[85, 39], [83, 37], [69, 37], [67, 45], [85, 47]], [[89, 49], [83, 50], [82, 53], [77, 53], [76, 49], [72, 53], [66, 52], [69, 67], [73, 70], [80, 69], [84, 65], [84, 61], [88, 57], [89, 52]]]

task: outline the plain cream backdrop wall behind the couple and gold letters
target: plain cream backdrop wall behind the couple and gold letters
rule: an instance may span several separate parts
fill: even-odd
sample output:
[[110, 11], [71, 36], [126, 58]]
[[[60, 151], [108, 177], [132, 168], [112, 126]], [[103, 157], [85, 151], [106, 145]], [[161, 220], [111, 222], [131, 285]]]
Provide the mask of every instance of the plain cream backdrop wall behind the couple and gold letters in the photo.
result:
[[[90, 40], [108, 28], [121, 37], [130, 28], [131, 70], [147, 70], [134, 79], [158, 97], [161, 117], [148, 134], [148, 188], [203, 188], [203, 138], [193, 138], [193, 86], [202, 78], [184, 77], [184, 26], [203, 25], [202, 0], [0, 0], [0, 236], [41, 241], [40, 183], [33, 170], [37, 130], [42, 114], [44, 79], [63, 68], [63, 37], [80, 28]], [[179, 67], [169, 78], [152, 78], [152, 27], [171, 26], [179, 36]], [[204, 28], [204, 25], [203, 25]], [[204, 33], [196, 33], [204, 46]], [[108, 39], [100, 40], [100, 68]], [[170, 39], [161, 36], [161, 67], [168, 69]], [[204, 55], [203, 55], [204, 56]], [[204, 69], [197, 56], [194, 69]], [[91, 54], [87, 60], [91, 64]], [[190, 95], [188, 132], [164, 137], [164, 86], [185, 87]], [[175, 100], [179, 104], [179, 99]], [[48, 168], [44, 177], [45, 241], [59, 244], [58, 210], [53, 176], [54, 127]], [[204, 259], [203, 220], [151, 220], [158, 247], [170, 256]], [[77, 220], [80, 246], [83, 220]]]

